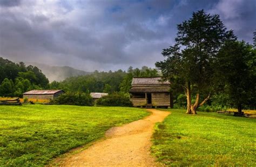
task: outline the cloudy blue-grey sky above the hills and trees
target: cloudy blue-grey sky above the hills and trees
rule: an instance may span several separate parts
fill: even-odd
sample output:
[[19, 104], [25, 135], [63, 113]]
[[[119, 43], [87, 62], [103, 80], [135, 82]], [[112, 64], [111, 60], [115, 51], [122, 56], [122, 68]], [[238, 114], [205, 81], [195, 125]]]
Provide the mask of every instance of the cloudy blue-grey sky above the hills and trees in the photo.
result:
[[154, 67], [204, 9], [252, 43], [256, 0], [0, 0], [0, 57], [85, 71]]

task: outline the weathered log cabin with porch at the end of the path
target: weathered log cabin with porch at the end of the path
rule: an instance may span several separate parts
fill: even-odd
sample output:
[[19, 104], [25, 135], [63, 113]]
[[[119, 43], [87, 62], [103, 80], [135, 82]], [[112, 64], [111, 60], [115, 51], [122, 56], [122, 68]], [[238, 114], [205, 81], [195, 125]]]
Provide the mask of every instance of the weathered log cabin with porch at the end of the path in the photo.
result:
[[170, 82], [160, 82], [160, 79], [160, 77], [132, 78], [130, 94], [133, 106], [169, 107]]

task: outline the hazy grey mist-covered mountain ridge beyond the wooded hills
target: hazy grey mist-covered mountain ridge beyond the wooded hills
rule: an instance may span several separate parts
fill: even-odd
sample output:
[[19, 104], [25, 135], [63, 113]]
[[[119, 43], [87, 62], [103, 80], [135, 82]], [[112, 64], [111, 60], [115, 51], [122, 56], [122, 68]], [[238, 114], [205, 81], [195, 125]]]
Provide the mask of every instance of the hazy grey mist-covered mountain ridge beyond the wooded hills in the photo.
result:
[[43, 74], [52, 81], [63, 81], [68, 77], [79, 76], [79, 75], [89, 75], [92, 72], [86, 72], [83, 70], [78, 70], [69, 66], [49, 66], [46, 64], [35, 63], [35, 62], [24, 62], [26, 66], [32, 65], [36, 66], [42, 70]]

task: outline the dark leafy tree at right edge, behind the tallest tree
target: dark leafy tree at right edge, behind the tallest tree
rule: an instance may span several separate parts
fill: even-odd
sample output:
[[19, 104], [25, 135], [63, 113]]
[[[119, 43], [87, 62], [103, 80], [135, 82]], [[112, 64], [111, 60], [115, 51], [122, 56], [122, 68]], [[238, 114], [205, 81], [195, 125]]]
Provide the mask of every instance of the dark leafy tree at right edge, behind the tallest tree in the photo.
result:
[[244, 41], [227, 41], [215, 64], [215, 74], [225, 84], [224, 91], [238, 113], [242, 113], [242, 105], [255, 104], [256, 52], [252, 46]]

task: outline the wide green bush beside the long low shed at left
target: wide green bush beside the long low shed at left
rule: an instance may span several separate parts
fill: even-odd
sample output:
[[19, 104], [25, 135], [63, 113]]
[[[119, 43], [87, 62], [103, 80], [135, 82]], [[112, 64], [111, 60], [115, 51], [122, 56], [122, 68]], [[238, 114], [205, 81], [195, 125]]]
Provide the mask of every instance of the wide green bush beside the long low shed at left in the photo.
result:
[[93, 99], [89, 93], [66, 92], [60, 95], [58, 98], [51, 100], [50, 104], [92, 106]]

